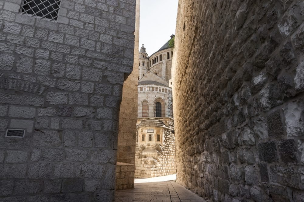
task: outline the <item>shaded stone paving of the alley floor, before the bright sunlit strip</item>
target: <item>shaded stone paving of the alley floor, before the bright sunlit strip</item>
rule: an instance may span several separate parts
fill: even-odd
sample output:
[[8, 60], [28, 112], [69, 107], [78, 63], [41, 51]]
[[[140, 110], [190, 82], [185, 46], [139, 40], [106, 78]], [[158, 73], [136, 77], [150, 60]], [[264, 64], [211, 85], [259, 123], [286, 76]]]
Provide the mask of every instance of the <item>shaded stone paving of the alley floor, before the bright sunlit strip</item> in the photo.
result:
[[175, 182], [136, 183], [134, 189], [116, 191], [116, 202], [206, 202]]

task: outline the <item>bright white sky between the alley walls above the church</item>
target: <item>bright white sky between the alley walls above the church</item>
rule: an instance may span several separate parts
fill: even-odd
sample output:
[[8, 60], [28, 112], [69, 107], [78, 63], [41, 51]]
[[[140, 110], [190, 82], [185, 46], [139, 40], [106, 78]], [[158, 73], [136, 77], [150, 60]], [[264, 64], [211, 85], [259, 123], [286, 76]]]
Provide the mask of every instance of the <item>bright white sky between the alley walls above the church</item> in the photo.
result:
[[178, 0], [140, 0], [139, 49], [150, 56], [175, 34]]

